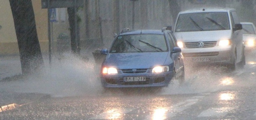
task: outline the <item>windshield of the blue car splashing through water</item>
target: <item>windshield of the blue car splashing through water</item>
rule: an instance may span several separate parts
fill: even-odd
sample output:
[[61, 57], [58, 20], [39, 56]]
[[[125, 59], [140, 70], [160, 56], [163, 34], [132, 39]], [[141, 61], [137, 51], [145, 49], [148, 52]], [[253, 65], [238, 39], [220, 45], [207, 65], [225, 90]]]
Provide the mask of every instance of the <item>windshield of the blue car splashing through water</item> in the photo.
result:
[[163, 34], [132, 34], [118, 36], [110, 53], [164, 52], [167, 50]]

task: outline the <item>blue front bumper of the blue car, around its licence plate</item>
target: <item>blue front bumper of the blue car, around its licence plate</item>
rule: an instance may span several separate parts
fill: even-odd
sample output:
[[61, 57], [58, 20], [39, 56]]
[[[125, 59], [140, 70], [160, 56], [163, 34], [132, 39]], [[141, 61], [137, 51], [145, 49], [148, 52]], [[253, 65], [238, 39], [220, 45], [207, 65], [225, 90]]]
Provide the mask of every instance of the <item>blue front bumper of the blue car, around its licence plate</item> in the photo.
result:
[[[146, 81], [124, 81], [124, 77], [145, 76]], [[170, 83], [173, 72], [145, 73], [145, 74], [101, 74], [101, 84], [103, 87], [124, 88], [124, 87], [166, 87]]]

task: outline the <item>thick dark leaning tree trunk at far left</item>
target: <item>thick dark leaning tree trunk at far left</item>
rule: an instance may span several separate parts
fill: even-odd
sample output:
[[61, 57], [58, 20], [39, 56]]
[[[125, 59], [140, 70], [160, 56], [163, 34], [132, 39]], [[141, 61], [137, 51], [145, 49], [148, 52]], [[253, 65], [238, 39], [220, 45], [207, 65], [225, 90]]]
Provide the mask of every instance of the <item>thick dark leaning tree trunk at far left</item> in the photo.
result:
[[29, 74], [41, 70], [44, 61], [38, 41], [32, 1], [9, 0], [9, 2], [20, 51], [22, 73]]

